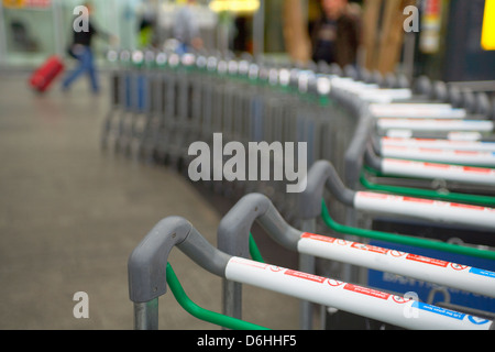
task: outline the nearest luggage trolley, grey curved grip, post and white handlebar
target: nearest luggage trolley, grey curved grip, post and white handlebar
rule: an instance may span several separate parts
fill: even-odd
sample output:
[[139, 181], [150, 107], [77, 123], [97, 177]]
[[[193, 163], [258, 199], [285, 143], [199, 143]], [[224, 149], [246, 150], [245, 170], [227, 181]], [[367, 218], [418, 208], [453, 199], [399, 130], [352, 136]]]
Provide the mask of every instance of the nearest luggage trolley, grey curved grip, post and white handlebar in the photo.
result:
[[[129, 257], [129, 293], [134, 302], [135, 329], [158, 328], [158, 297], [166, 293], [172, 273], [167, 268], [168, 254], [174, 246], [178, 246], [210, 273], [228, 280], [341, 307], [404, 328], [490, 329], [493, 326], [493, 321], [487, 319], [449, 310], [449, 315], [454, 315], [452, 318], [439, 314], [441, 308], [420, 305], [413, 299], [316, 275], [308, 279], [307, 274], [302, 272], [229, 255], [207, 242], [187, 220], [169, 217], [160, 221]], [[339, 285], [332, 286], [334, 283]], [[404, 315], [405, 308], [418, 308], [421, 312], [415, 319], [408, 319]], [[441, 311], [447, 312], [446, 309]]]

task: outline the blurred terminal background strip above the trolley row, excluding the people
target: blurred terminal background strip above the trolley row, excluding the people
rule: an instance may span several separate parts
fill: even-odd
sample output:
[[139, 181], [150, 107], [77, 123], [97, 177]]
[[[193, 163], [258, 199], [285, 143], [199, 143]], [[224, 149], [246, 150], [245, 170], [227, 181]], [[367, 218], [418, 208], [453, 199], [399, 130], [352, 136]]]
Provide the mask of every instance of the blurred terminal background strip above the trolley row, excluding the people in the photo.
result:
[[[153, 45], [172, 36], [186, 0], [92, 0], [97, 25], [119, 47], [139, 48], [143, 23], [153, 24]], [[47, 56], [66, 56], [78, 0], [2, 0], [0, 65], [36, 67]], [[407, 6], [419, 10], [420, 31], [403, 30]], [[361, 22], [358, 64], [382, 73], [428, 75], [444, 81], [495, 79], [495, 51], [482, 46], [485, 0], [349, 1]], [[311, 36], [321, 18], [320, 0], [198, 0], [194, 18], [205, 47], [296, 61], [311, 58]], [[495, 35], [486, 24], [487, 35]], [[96, 43], [105, 65], [108, 43]], [[103, 66], [105, 67], [105, 66]]]

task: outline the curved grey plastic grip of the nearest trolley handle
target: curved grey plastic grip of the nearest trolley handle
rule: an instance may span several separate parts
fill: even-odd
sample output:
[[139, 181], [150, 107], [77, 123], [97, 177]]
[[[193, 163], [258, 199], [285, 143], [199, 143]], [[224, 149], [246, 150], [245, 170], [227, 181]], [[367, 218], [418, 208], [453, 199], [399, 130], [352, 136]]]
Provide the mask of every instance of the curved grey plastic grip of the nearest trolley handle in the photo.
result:
[[166, 293], [166, 265], [176, 246], [212, 274], [223, 277], [230, 255], [213, 248], [180, 217], [160, 221], [132, 251], [128, 261], [129, 296], [146, 302]]

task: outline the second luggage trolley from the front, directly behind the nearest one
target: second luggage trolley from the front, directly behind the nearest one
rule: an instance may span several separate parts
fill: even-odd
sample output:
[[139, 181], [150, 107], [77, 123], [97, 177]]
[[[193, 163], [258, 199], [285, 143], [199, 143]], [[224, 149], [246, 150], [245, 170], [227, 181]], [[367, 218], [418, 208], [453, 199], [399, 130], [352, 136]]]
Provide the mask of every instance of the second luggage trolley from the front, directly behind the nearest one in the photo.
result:
[[[251, 215], [250, 215], [251, 212]], [[282, 244], [284, 248], [299, 253], [299, 255], [318, 256], [327, 260], [334, 260], [338, 262], [367, 266], [369, 268], [383, 270], [393, 274], [406, 275], [417, 279], [424, 279], [427, 282], [433, 282], [440, 285], [447, 285], [449, 287], [455, 287], [460, 289], [465, 289], [468, 292], [474, 292], [480, 295], [486, 295], [487, 297], [495, 297], [495, 292], [493, 290], [493, 285], [495, 285], [495, 274], [491, 271], [483, 271], [474, 268], [471, 271], [473, 274], [472, 278], [479, 280], [479, 287], [475, 288], [470, 286], [471, 284], [462, 284], [462, 278], [455, 277], [455, 275], [463, 275], [459, 271], [463, 267], [459, 264], [447, 264], [444, 261], [437, 261], [435, 258], [425, 257], [416, 254], [395, 252], [388, 249], [383, 249], [374, 245], [363, 244], [354, 241], [345, 241], [343, 239], [334, 239], [324, 235], [318, 235], [314, 233], [302, 232], [292, 228], [282, 218], [277, 209], [273, 206], [272, 201], [263, 195], [248, 195], [244, 196], [238, 204], [226, 215], [221, 220], [219, 226], [218, 239], [219, 249], [222, 249], [227, 253], [245, 256], [248, 251], [248, 233], [254, 221], [258, 221], [265, 232], [273, 238], [274, 241]], [[391, 235], [392, 237], [392, 235]], [[397, 235], [402, 239], [404, 237]], [[306, 244], [305, 241], [308, 239], [311, 244]], [[404, 238], [407, 241], [407, 238]], [[250, 238], [252, 240], [252, 238]], [[321, 242], [321, 243], [320, 243]], [[427, 241], [428, 242], [428, 241]], [[251, 242], [250, 242], [251, 245]], [[328, 252], [324, 246], [329, 246]], [[355, 249], [360, 251], [346, 251], [345, 249]], [[449, 246], [446, 246], [448, 249]], [[251, 250], [250, 250], [251, 251]], [[333, 252], [334, 251], [334, 252]], [[391, 257], [391, 262], [387, 262], [382, 255], [387, 254]], [[485, 253], [486, 254], [486, 253]], [[488, 252], [492, 257], [495, 257], [495, 252]], [[363, 256], [362, 256], [363, 255]], [[254, 257], [254, 255], [252, 255]], [[369, 256], [370, 262], [366, 263], [364, 257]], [[407, 263], [410, 263], [410, 267], [402, 267], [400, 264], [394, 263], [394, 260], [407, 258]], [[418, 263], [421, 263], [418, 265]], [[431, 266], [431, 263], [442, 264]], [[418, 272], [413, 273], [415, 270], [413, 267], [417, 266]], [[301, 265], [300, 265], [301, 266]], [[301, 270], [299, 266], [299, 270]], [[409, 266], [405, 264], [405, 266]], [[440, 270], [441, 267], [441, 270]], [[308, 275], [314, 274], [314, 271], [308, 267]], [[411, 270], [411, 271], [409, 271]], [[435, 274], [438, 271], [438, 275]], [[449, 270], [453, 276], [448, 278], [447, 272], [443, 270]], [[485, 273], [486, 276], [477, 276], [477, 273]], [[454, 278], [455, 277], [455, 278]], [[458, 282], [459, 279], [459, 282]], [[235, 284], [226, 284], [224, 295], [227, 297], [224, 301], [224, 314], [233, 315], [234, 317], [240, 317], [240, 286]], [[233, 294], [232, 294], [233, 293]], [[231, 299], [230, 299], [231, 298]], [[488, 314], [488, 316], [491, 316]], [[493, 314], [492, 316], [495, 316]], [[306, 307], [301, 306], [301, 327], [310, 327], [310, 314]], [[309, 321], [308, 321], [309, 320]]]

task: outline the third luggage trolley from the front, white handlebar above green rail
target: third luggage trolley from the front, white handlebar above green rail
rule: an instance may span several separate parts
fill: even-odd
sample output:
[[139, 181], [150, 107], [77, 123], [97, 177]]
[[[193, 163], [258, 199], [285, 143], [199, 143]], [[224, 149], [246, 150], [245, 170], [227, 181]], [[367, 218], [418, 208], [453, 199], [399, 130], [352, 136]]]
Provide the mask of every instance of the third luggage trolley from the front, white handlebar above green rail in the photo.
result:
[[[319, 182], [318, 182], [319, 179]], [[418, 227], [431, 227], [433, 230], [430, 234], [436, 241], [426, 241], [426, 239], [419, 239], [415, 237], [410, 237], [410, 233], [407, 231], [398, 231], [399, 233], [409, 234], [407, 241], [397, 242], [395, 237], [384, 235], [382, 231], [373, 231], [373, 230], [364, 230], [356, 229], [355, 227], [341, 226], [337, 223], [328, 212], [326, 205], [323, 204], [323, 208], [321, 208], [321, 199], [323, 197], [323, 189], [327, 188], [334, 195], [334, 197], [345, 204], [348, 207], [359, 210], [360, 212], [365, 212], [369, 215], [376, 213], [394, 213], [398, 217], [418, 217], [421, 218], [421, 222]], [[391, 201], [388, 204], [388, 201]], [[382, 208], [383, 205], [388, 204], [391, 206], [389, 209]], [[436, 208], [440, 207], [442, 210], [440, 212], [436, 211]], [[403, 209], [403, 210], [400, 210]], [[419, 212], [417, 212], [419, 210]], [[480, 211], [481, 210], [481, 211]], [[424, 212], [420, 215], [420, 212]], [[485, 224], [482, 224], [482, 219], [479, 221], [465, 221], [462, 217], [473, 216], [475, 212], [484, 212], [482, 218], [484, 221], [487, 221]], [[485, 212], [486, 211], [486, 212]], [[428, 215], [426, 215], [428, 212]], [[410, 246], [416, 246], [419, 244], [420, 248], [433, 250], [433, 252], [425, 252], [424, 250], [417, 252], [418, 254], [433, 253], [430, 256], [442, 255], [443, 260], [454, 261], [453, 258], [462, 257], [463, 261], [468, 261], [468, 263], [476, 263], [476, 260], [470, 258], [473, 256], [475, 258], [482, 257], [483, 260], [490, 260], [488, 262], [483, 262], [483, 265], [488, 266], [488, 270], [494, 270], [493, 251], [488, 252], [480, 252], [479, 248], [486, 248], [486, 245], [493, 246], [493, 239], [490, 235], [493, 233], [493, 208], [488, 207], [473, 207], [470, 205], [462, 204], [453, 204], [446, 201], [437, 201], [430, 199], [421, 199], [416, 197], [403, 197], [391, 194], [383, 193], [370, 193], [370, 191], [353, 191], [343, 186], [339, 176], [337, 175], [332, 165], [326, 161], [318, 162], [308, 173], [308, 187], [305, 193], [301, 194], [301, 205], [300, 205], [300, 215], [304, 219], [315, 219], [320, 215], [323, 217], [324, 222], [334, 231], [340, 231], [345, 234], [352, 234], [358, 237], [371, 238], [373, 241], [371, 242], [374, 245], [387, 246], [391, 249], [396, 249], [398, 251], [410, 251]], [[492, 215], [492, 217], [491, 217]], [[457, 219], [453, 219], [453, 218]], [[475, 216], [473, 216], [474, 219]], [[378, 218], [380, 219], [380, 218]], [[465, 246], [459, 246], [457, 244], [438, 242], [440, 235], [444, 237], [444, 233], [451, 234], [453, 231], [443, 231], [443, 233], [437, 233], [437, 228], [435, 227], [439, 221], [450, 222], [459, 224], [459, 226], [468, 226], [470, 229], [475, 229], [476, 227], [483, 228], [484, 232], [480, 232], [475, 238], [475, 231], [469, 231], [469, 237], [464, 238], [466, 243], [476, 243], [477, 245], [466, 244]], [[410, 227], [410, 222], [407, 222]], [[441, 228], [440, 228], [441, 229]], [[463, 228], [461, 228], [463, 229]], [[402, 230], [402, 229], [399, 229]], [[388, 231], [392, 232], [392, 231]], [[394, 231], [397, 232], [397, 231]], [[439, 231], [440, 232], [440, 231]], [[450, 238], [444, 239], [448, 241]], [[410, 241], [410, 242], [409, 242]], [[389, 246], [389, 243], [393, 243], [393, 246]], [[384, 244], [385, 243], [385, 244]], [[400, 244], [400, 245], [397, 245]], [[449, 254], [438, 253], [438, 251], [443, 252], [443, 250], [448, 250]], [[435, 252], [436, 251], [436, 252]], [[459, 260], [457, 260], [459, 262]], [[472, 264], [473, 265], [473, 264]], [[363, 275], [363, 273], [361, 273]], [[375, 282], [376, 285], [383, 284]], [[490, 302], [484, 302], [485, 305]], [[486, 308], [486, 307], [485, 307]], [[491, 308], [493, 309], [493, 308]], [[490, 310], [490, 309], [488, 309]]]

